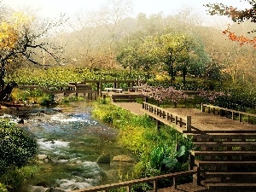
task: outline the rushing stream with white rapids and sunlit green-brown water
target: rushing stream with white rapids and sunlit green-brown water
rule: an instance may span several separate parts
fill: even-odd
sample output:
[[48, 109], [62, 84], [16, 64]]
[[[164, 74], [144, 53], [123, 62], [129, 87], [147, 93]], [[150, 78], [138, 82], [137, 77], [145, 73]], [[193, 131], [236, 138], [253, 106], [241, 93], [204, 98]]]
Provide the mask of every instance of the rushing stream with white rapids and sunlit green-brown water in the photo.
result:
[[[19, 125], [32, 132], [38, 140], [39, 154], [48, 158], [39, 161], [40, 172], [30, 184], [44, 183], [70, 191], [119, 182], [119, 172], [132, 172], [134, 163], [113, 162], [114, 155], [130, 154], [116, 142], [117, 131], [93, 119], [90, 111], [88, 102], [31, 109], [30, 118]], [[7, 116], [19, 120], [14, 112], [2, 115]], [[110, 154], [111, 163], [96, 163], [101, 154]]]

